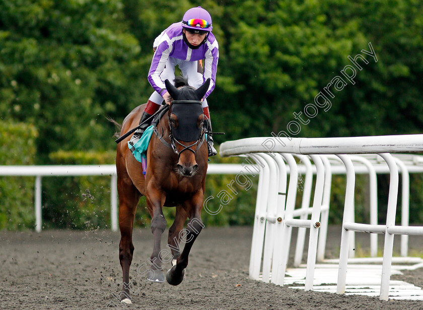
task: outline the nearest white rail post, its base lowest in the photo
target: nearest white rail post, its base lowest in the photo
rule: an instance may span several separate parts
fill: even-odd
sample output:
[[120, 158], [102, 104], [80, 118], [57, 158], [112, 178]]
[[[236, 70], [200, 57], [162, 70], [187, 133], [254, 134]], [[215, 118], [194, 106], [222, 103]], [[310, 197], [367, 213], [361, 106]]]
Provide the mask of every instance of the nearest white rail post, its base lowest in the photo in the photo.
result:
[[[395, 226], [396, 204], [398, 196], [398, 168], [391, 154], [379, 154], [388, 164], [389, 167], [389, 194], [388, 194], [388, 210], [386, 212], [386, 228]], [[382, 279], [380, 284], [380, 299], [388, 300], [389, 295], [389, 279], [391, 277], [392, 250], [394, 247], [394, 236], [385, 231], [385, 244], [383, 249], [382, 263]]]

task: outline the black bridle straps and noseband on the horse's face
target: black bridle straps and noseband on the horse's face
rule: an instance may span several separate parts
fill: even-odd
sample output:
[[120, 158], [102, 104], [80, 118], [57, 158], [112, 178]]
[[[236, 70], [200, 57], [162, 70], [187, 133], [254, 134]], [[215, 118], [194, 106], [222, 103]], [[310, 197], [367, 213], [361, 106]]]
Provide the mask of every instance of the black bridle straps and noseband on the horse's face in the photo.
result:
[[[186, 88], [186, 87], [191, 88], [190, 86], [183, 86], [180, 89]], [[191, 88], [191, 89], [194, 89], [194, 88]], [[171, 104], [173, 105], [173, 104], [179, 104], [179, 103], [201, 104], [201, 101], [198, 101], [198, 100], [174, 100], [174, 101], [172, 101]], [[169, 109], [170, 109], [170, 107], [168, 108], [168, 110]], [[167, 147], [169, 147], [170, 149], [172, 149], [174, 151], [174, 153], [178, 155], [178, 159], [180, 158], [182, 152], [184, 152], [186, 150], [190, 150], [190, 151], [192, 151], [195, 154], [195, 152], [201, 147], [201, 145], [205, 141], [204, 135], [205, 135], [206, 132], [204, 130], [204, 127], [202, 127], [201, 132], [200, 132], [200, 135], [197, 138], [197, 140], [194, 143], [186, 146], [182, 142], [180, 142], [178, 139], [175, 138], [174, 133], [173, 133], [173, 128], [172, 128], [172, 122], [171, 122], [170, 114], [171, 113], [169, 113], [169, 115], [168, 115], [168, 122], [169, 122], [169, 128], [170, 128], [170, 133], [169, 133], [170, 143], [167, 142], [164, 139], [164, 137], [163, 137], [163, 134], [164, 134], [164, 128], [163, 127], [162, 127], [162, 134], [161, 135], [159, 135], [159, 132], [157, 131], [157, 127], [154, 127], [154, 132], [156, 133], [157, 137], [159, 138], [160, 141], [162, 141], [162, 143], [164, 145], [166, 145]], [[177, 148], [176, 148], [176, 146], [178, 144], [183, 147], [180, 151], [178, 151]], [[195, 150], [191, 148], [194, 145], [197, 145], [197, 147], [195, 148]]]

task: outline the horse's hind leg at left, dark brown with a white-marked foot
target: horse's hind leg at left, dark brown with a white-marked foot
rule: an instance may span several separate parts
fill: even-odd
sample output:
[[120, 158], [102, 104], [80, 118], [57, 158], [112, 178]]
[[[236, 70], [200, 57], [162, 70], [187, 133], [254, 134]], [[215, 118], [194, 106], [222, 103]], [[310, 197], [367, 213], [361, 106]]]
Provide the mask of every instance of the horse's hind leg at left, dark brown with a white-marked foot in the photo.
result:
[[121, 236], [119, 261], [123, 273], [123, 287], [120, 298], [123, 302], [130, 303], [129, 267], [132, 262], [134, 250], [132, 244], [132, 226], [140, 193], [130, 181], [126, 170], [125, 173], [119, 173], [119, 169], [117, 190], [119, 194], [119, 228]]

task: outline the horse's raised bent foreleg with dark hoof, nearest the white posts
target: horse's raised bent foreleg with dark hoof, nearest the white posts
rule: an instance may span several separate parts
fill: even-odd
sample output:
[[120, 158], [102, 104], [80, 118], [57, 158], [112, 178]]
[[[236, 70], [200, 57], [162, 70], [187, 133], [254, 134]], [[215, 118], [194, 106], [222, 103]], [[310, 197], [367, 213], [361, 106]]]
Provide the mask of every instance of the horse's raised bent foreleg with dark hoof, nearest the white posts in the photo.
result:
[[178, 285], [182, 282], [185, 274], [185, 268], [188, 266], [188, 256], [192, 245], [204, 224], [201, 221], [201, 208], [203, 203], [203, 192], [195, 194], [191, 200], [185, 202], [184, 209], [189, 214], [189, 221], [186, 227], [186, 242], [184, 250], [176, 260], [176, 265], [173, 266], [166, 274], [166, 280], [169, 284]]

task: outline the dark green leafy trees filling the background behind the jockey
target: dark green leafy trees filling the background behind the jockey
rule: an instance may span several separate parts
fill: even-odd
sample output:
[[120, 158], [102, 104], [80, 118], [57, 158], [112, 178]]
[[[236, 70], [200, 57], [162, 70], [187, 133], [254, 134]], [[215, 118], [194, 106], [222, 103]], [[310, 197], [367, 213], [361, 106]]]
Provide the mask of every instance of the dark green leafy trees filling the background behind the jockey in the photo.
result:
[[[313, 103], [335, 76], [342, 76], [344, 66], [351, 65], [347, 56], [359, 53], [369, 63], [362, 64], [355, 84], [348, 82], [341, 91], [334, 91], [331, 108], [319, 109], [307, 125], [301, 124], [297, 136], [421, 133], [423, 3], [419, 0], [3, 0], [2, 131], [9, 139], [17, 139], [21, 133], [14, 129], [16, 124], [25, 124], [29, 127], [21, 127], [34, 128], [38, 134], [33, 136], [33, 146], [27, 145], [35, 150], [31, 161], [8, 158], [4, 150], [10, 146], [2, 139], [0, 165], [102, 162], [91, 155], [81, 159], [81, 152], [97, 152], [97, 159], [108, 158], [104, 162], [113, 164], [113, 155], [107, 154], [115, 148], [115, 128], [106, 116], [121, 122], [130, 110], [146, 102], [152, 92], [147, 73], [155, 37], [181, 20], [187, 9], [199, 5], [212, 15], [220, 46], [217, 86], [209, 97], [214, 129], [226, 132], [216, 136], [217, 144], [287, 130], [287, 124], [295, 120], [293, 113]], [[370, 50], [369, 42], [377, 62], [361, 52]], [[27, 137], [23, 143], [29, 140]], [[60, 152], [66, 155], [60, 157]], [[215, 158], [212, 163], [219, 161]], [[232, 177], [210, 177], [210, 194], [224, 189]], [[88, 207], [91, 201], [82, 201], [88, 179], [47, 181], [46, 225], [106, 225], [109, 202], [100, 198], [108, 197], [107, 191], [100, 194], [102, 185], [90, 192], [100, 195], [95, 207]], [[92, 179], [97, 185], [108, 183]], [[387, 180], [379, 182], [386, 184]], [[362, 183], [364, 187], [366, 181]], [[343, 191], [342, 181], [334, 186]], [[421, 178], [413, 186], [410, 217], [422, 222]], [[75, 196], [49, 198], [60, 189]], [[6, 191], [3, 187], [0, 195], [5, 196]], [[12, 199], [3, 196], [2, 203]], [[254, 199], [253, 192], [237, 196], [222, 218], [207, 221], [249, 224]], [[341, 207], [336, 195], [332, 202], [335, 210]], [[10, 208], [2, 211], [0, 222], [11, 216]], [[145, 224], [149, 219], [143, 202], [139, 210], [137, 224]], [[72, 216], [66, 218], [66, 214]], [[19, 221], [16, 216], [14, 221]], [[22, 221], [28, 219], [22, 216]]]

